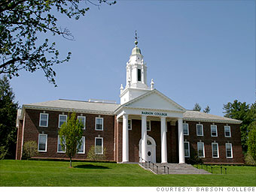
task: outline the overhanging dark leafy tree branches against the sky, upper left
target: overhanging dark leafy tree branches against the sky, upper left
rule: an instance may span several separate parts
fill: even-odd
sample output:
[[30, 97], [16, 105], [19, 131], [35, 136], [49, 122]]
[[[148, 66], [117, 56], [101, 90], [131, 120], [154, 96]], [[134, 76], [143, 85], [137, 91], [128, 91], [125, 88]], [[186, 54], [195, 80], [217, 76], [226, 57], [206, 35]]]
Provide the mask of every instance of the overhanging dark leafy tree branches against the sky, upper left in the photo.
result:
[[[101, 3], [113, 5], [116, 1], [97, 0]], [[59, 51], [55, 43], [48, 39], [38, 39], [39, 33], [50, 32], [59, 34], [66, 39], [74, 37], [67, 28], [57, 26], [57, 18], [53, 11], [78, 20], [89, 10], [87, 4], [80, 0], [4, 0], [0, 1], [0, 74], [7, 74], [9, 78], [19, 76], [20, 70], [34, 72], [44, 71], [44, 76], [56, 86], [53, 65], [68, 62], [71, 52], [66, 58], [59, 59]], [[40, 41], [44, 43], [39, 43]]]

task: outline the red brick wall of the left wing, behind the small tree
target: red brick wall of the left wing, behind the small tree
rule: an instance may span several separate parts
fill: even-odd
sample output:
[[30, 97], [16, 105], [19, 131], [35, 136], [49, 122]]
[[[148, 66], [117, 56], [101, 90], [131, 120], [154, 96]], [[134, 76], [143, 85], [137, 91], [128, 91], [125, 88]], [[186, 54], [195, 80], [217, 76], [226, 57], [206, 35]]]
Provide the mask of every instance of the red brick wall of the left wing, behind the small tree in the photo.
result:
[[[62, 112], [45, 111], [49, 114], [48, 127], [39, 127], [40, 113], [43, 113], [43, 111], [26, 110], [24, 142], [35, 140], [38, 143], [38, 133], [44, 131], [47, 134], [47, 152], [39, 152], [38, 157], [66, 157], [66, 154], [57, 153], [58, 122], [59, 114], [62, 114]], [[69, 113], [64, 114], [69, 115]], [[81, 115], [81, 113], [77, 113], [77, 115]], [[114, 115], [100, 115], [104, 118], [103, 130], [95, 130], [95, 118], [99, 115], [87, 113], [83, 113], [83, 115], [86, 116], [86, 130], [83, 133], [83, 136], [85, 136], [85, 154], [76, 154], [74, 158], [85, 159], [90, 146], [95, 145], [95, 137], [100, 136], [103, 137], [104, 147], [107, 148], [106, 159], [114, 160]]]

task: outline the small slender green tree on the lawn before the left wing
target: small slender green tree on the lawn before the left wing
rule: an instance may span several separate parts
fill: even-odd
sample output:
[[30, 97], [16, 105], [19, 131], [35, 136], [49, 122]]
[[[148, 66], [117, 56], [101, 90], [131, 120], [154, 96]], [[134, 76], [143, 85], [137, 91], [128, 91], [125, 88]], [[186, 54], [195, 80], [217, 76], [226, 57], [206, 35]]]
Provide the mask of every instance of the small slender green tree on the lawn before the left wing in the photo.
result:
[[84, 125], [76, 118], [76, 114], [72, 113], [67, 122], [64, 122], [59, 129], [60, 145], [66, 148], [66, 155], [70, 160], [72, 167], [72, 157], [81, 146]]

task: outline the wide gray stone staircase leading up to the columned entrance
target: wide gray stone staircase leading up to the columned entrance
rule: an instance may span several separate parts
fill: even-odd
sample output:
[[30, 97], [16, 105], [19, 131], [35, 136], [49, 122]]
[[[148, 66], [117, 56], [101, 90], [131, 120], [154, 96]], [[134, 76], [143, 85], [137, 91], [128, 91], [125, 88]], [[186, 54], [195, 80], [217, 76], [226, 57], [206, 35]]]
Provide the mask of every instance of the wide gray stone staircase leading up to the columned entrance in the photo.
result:
[[197, 169], [187, 163], [139, 163], [144, 169], [154, 174], [211, 174], [204, 169]]

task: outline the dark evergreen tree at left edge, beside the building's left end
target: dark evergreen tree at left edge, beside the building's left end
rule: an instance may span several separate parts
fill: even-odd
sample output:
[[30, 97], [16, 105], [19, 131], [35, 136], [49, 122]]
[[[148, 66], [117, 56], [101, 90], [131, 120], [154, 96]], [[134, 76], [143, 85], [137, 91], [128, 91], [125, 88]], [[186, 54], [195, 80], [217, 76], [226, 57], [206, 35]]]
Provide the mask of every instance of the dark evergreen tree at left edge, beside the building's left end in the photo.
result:
[[15, 95], [6, 76], [0, 77], [0, 159], [14, 158], [17, 141]]

